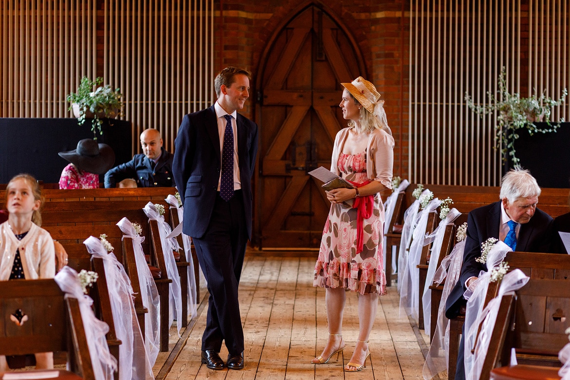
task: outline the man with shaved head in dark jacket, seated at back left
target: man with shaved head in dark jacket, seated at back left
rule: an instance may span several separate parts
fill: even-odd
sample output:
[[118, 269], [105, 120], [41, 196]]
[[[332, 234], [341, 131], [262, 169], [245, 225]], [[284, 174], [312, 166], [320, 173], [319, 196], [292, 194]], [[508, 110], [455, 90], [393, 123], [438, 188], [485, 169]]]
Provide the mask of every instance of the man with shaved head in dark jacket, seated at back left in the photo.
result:
[[105, 187], [116, 187], [126, 178], [135, 179], [138, 187], [175, 186], [172, 175], [173, 154], [162, 148], [162, 137], [158, 129], [149, 128], [141, 133], [141, 148], [144, 154], [135, 154], [105, 174]]

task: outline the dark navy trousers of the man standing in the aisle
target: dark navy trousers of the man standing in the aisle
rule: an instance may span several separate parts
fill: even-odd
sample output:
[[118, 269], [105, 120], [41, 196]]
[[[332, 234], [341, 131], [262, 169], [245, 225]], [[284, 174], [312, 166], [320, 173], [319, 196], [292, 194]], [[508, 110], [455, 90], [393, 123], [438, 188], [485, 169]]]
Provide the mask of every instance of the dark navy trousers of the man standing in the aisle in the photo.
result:
[[230, 354], [243, 352], [238, 285], [247, 244], [244, 214], [241, 190], [227, 202], [218, 193], [206, 233], [193, 239], [210, 293], [202, 350], [219, 352], [225, 341]]

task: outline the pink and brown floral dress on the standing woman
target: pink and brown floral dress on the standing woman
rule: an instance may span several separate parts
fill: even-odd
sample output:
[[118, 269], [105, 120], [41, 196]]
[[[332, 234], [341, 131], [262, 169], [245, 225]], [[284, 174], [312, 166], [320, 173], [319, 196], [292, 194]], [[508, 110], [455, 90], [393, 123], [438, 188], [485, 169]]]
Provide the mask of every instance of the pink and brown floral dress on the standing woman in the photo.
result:
[[[392, 136], [388, 139], [388, 146], [390, 141], [393, 144]], [[389, 146], [390, 150], [386, 154], [392, 153], [392, 146]], [[333, 157], [335, 157], [334, 154]], [[338, 157], [337, 169], [341, 177], [359, 184], [370, 181], [367, 175], [367, 159], [374, 157], [372, 153], [339, 153]], [[391, 177], [391, 167], [389, 171]], [[360, 199], [362, 198], [365, 197]], [[361, 294], [386, 294], [382, 250], [384, 206], [378, 194], [374, 197], [370, 196], [369, 199], [373, 202], [372, 212], [368, 218], [363, 219], [361, 224], [363, 230], [361, 252], [357, 252], [358, 210], [352, 208], [355, 199], [331, 204], [331, 210], [324, 225], [319, 258], [315, 264], [315, 286], [344, 288], [347, 291]]]

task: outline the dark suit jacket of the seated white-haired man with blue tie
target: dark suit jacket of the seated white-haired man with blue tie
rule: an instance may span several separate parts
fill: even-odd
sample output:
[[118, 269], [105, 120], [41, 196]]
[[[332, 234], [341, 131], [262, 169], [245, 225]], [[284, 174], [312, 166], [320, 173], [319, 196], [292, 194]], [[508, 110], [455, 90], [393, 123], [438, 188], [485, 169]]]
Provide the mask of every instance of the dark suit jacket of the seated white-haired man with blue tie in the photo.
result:
[[[463, 293], [466, 291], [465, 281], [469, 277], [478, 277], [481, 271], [487, 271], [487, 266], [475, 259], [481, 256], [481, 244], [488, 238], [499, 239], [500, 204], [479, 207], [467, 215], [467, 238], [463, 252], [463, 265], [457, 284], [451, 289], [445, 305], [447, 318], [457, 317], [459, 309], [466, 304]], [[520, 225], [519, 237], [516, 241], [516, 251], [520, 252], [551, 252], [553, 237], [553, 220], [550, 215], [539, 209], [528, 221]]]

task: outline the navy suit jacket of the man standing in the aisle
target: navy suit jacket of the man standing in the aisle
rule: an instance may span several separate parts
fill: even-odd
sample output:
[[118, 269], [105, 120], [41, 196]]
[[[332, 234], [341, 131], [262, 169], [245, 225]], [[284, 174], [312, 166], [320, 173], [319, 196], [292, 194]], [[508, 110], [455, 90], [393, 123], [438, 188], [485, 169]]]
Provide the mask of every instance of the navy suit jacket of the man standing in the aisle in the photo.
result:
[[[251, 239], [251, 178], [258, 148], [258, 126], [239, 113], [236, 124], [243, 206]], [[222, 167], [214, 106], [185, 115], [174, 143], [172, 169], [184, 205], [182, 231], [193, 238], [202, 238], [214, 209]]]

